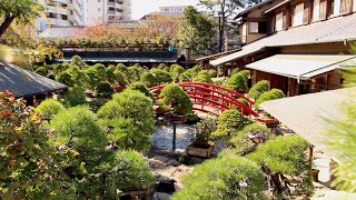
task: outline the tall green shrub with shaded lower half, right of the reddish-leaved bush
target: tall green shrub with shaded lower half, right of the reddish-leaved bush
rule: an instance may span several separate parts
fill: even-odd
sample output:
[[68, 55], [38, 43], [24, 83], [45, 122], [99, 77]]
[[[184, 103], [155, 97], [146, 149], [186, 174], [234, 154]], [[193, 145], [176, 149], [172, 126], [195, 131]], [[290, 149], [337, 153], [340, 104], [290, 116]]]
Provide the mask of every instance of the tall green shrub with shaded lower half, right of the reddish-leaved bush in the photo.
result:
[[108, 140], [98, 117], [89, 107], [78, 106], [56, 114], [50, 124], [59, 134], [53, 143], [70, 148], [73, 154], [63, 163], [73, 190], [86, 197], [102, 197], [110, 170], [110, 152], [106, 151]]

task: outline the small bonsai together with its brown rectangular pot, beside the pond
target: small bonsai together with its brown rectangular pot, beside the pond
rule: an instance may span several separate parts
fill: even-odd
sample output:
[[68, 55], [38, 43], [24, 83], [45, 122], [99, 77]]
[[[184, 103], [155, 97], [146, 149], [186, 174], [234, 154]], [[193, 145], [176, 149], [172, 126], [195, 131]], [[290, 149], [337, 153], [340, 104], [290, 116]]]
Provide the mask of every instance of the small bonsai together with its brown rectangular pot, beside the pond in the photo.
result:
[[198, 133], [196, 139], [188, 146], [187, 154], [197, 156], [202, 158], [210, 158], [214, 150], [215, 143], [209, 141], [211, 132], [216, 131], [216, 119], [205, 118], [197, 123]]

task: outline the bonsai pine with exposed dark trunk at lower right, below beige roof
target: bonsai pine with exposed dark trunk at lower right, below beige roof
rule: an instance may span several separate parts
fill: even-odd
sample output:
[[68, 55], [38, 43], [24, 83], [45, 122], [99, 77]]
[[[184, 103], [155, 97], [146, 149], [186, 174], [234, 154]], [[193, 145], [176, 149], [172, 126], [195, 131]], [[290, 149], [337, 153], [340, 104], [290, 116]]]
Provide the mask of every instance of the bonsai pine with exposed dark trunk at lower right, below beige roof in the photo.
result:
[[250, 160], [261, 166], [265, 176], [268, 178], [269, 190], [274, 191], [277, 197], [290, 199], [288, 187], [290, 187], [287, 176], [300, 177], [297, 182], [300, 184], [296, 188], [296, 196], [308, 199], [313, 191], [312, 178], [308, 173], [309, 164], [305, 158], [308, 142], [299, 136], [277, 137], [269, 140], [257, 149], [247, 154]]

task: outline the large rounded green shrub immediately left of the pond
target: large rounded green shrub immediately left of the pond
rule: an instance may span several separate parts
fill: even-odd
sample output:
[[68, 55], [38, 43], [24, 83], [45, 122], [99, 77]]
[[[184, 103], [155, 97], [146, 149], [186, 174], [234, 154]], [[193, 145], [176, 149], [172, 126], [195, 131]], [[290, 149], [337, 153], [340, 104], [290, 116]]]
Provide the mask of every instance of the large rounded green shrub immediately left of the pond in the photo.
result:
[[98, 111], [101, 124], [110, 129], [108, 138], [120, 149], [146, 150], [155, 132], [152, 100], [140, 91], [126, 89]]

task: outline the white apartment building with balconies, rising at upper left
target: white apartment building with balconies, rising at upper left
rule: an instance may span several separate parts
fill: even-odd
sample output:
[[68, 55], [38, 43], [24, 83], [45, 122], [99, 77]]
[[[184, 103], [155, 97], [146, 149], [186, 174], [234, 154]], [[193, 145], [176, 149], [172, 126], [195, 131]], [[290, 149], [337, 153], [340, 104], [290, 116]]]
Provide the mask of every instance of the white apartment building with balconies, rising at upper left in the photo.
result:
[[50, 0], [42, 1], [49, 27], [96, 26], [130, 20], [130, 0]]

